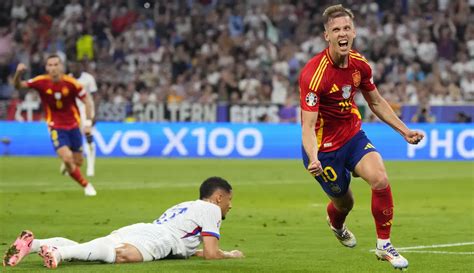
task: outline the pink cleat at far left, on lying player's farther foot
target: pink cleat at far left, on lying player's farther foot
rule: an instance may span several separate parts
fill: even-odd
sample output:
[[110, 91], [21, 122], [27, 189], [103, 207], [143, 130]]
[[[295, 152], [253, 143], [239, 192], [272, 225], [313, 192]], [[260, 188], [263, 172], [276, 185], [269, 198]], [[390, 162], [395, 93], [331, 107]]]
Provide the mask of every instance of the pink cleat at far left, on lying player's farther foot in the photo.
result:
[[3, 266], [15, 266], [28, 255], [35, 236], [29, 230], [23, 230], [3, 256]]

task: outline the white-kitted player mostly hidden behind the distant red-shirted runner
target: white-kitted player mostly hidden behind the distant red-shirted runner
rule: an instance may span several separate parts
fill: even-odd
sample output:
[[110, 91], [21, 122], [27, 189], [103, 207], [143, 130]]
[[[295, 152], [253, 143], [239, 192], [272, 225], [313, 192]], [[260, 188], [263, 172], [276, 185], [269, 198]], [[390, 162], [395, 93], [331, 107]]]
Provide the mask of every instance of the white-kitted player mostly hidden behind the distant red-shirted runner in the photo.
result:
[[[70, 68], [70, 76], [74, 77], [77, 79], [77, 81], [82, 85], [82, 88], [89, 93], [91, 97], [91, 103], [92, 103], [92, 124], [91, 125], [91, 133], [86, 134], [86, 147], [85, 147], [85, 153], [86, 153], [86, 163], [87, 163], [87, 168], [86, 168], [86, 175], [87, 176], [94, 176], [95, 174], [95, 155], [96, 155], [96, 147], [94, 143], [94, 131], [96, 130], [94, 127], [95, 124], [95, 106], [94, 106], [94, 94], [97, 92], [97, 83], [94, 79], [94, 76], [92, 76], [90, 73], [86, 72], [85, 69], [85, 63], [80, 63], [80, 62], [73, 62], [69, 65]], [[82, 129], [84, 130], [84, 126], [88, 123], [87, 122], [87, 117], [86, 117], [86, 107], [85, 104], [82, 103], [80, 99], [76, 100], [76, 104], [79, 108], [79, 113], [81, 115], [81, 124], [82, 124]], [[62, 165], [63, 166], [63, 165]], [[65, 168], [61, 168], [62, 172], [64, 173]]]

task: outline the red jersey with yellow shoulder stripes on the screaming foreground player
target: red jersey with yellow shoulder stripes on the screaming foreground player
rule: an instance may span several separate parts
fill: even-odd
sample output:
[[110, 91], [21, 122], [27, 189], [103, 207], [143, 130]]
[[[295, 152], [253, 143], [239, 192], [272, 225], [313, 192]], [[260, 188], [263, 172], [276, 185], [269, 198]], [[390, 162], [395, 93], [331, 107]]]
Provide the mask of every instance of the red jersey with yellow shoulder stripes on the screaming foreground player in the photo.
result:
[[361, 116], [354, 102], [357, 90], [373, 91], [372, 69], [351, 50], [347, 68], [334, 65], [329, 49], [314, 56], [299, 78], [301, 109], [319, 112], [316, 137], [321, 152], [339, 149], [360, 131]]

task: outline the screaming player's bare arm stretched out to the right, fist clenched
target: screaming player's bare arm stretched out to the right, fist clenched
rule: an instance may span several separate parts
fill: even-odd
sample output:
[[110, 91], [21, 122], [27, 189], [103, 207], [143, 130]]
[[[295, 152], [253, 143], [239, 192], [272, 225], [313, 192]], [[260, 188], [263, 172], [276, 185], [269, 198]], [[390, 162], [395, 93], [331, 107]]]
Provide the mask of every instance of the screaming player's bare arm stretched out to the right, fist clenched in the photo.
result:
[[390, 125], [395, 131], [400, 133], [403, 138], [410, 144], [418, 144], [424, 135], [418, 131], [410, 130], [403, 121], [393, 111], [388, 102], [380, 95], [377, 88], [370, 92], [362, 92], [370, 109], [383, 122]]

